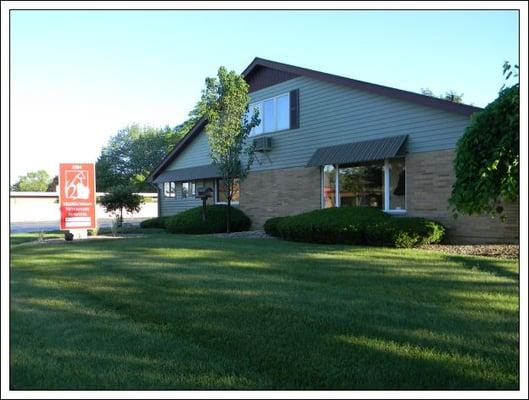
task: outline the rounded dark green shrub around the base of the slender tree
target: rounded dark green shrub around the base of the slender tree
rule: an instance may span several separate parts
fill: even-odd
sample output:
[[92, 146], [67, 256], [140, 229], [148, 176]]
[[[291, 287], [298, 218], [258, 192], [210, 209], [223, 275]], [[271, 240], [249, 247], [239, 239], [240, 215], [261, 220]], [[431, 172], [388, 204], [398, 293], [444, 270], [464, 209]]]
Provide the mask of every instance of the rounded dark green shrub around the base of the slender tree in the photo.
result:
[[[206, 210], [206, 221], [202, 221], [202, 206], [191, 208], [168, 218], [166, 228], [171, 233], [222, 233], [226, 232], [227, 205], [210, 205]], [[251, 221], [238, 208], [231, 207], [231, 231], [247, 231]]]

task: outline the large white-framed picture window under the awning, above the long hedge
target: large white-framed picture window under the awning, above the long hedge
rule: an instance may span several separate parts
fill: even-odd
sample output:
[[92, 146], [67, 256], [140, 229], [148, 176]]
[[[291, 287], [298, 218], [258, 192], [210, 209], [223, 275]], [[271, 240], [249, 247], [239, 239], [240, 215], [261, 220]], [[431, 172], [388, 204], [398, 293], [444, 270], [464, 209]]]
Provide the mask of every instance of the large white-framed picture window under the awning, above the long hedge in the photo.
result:
[[322, 207], [375, 207], [406, 210], [404, 159], [322, 168]]

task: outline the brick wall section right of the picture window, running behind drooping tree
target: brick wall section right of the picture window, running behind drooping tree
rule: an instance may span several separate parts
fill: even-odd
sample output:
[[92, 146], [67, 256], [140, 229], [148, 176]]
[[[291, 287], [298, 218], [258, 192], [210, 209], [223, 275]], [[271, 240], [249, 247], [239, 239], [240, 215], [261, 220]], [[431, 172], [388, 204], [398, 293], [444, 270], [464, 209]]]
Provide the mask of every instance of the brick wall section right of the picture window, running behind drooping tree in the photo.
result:
[[406, 209], [410, 216], [433, 218], [447, 228], [448, 240], [458, 243], [517, 243], [519, 206], [505, 206], [506, 221], [486, 216], [452, 217], [448, 210], [455, 180], [454, 150], [413, 153], [406, 157]]

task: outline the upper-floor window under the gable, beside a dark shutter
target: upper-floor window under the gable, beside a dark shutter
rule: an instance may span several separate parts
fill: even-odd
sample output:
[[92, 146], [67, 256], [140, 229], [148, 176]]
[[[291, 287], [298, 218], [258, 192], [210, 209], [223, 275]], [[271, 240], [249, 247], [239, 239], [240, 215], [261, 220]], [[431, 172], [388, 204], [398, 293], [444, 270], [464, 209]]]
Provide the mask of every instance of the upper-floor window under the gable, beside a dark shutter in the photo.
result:
[[261, 122], [252, 129], [250, 136], [289, 129], [290, 127], [290, 95], [289, 93], [270, 99], [251, 103], [248, 107], [248, 119], [254, 109], [259, 111]]

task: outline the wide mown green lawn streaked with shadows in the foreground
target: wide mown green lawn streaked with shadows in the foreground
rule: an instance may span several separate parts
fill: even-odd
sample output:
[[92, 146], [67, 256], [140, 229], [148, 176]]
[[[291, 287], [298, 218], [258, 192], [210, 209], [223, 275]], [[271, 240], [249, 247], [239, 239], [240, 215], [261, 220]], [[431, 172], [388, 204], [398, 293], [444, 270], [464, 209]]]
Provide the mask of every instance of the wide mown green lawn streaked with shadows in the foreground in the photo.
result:
[[154, 234], [11, 248], [13, 389], [517, 389], [518, 264]]

